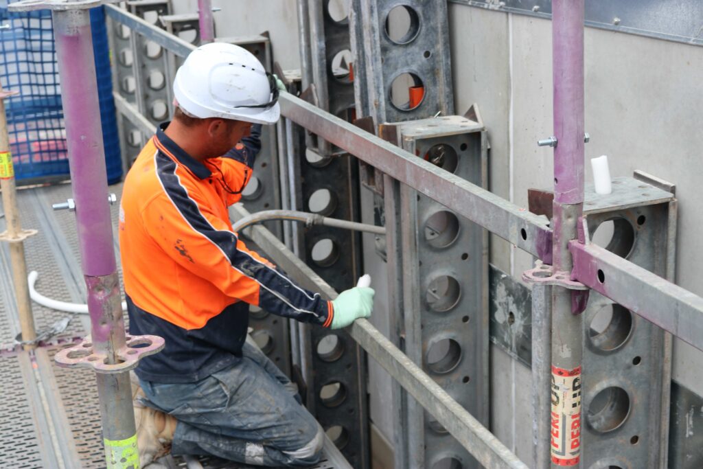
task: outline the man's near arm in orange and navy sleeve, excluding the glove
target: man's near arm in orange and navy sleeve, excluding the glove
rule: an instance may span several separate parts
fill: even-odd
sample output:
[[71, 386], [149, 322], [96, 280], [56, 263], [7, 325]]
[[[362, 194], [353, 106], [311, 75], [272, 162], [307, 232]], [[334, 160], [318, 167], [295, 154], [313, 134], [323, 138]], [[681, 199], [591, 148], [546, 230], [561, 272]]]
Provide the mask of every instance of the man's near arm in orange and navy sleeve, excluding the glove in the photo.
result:
[[247, 249], [236, 233], [186, 191], [175, 174], [164, 174], [165, 195], [144, 207], [148, 234], [175, 262], [206, 278], [225, 295], [279, 316], [328, 327], [331, 302], [299, 287], [262, 257]]

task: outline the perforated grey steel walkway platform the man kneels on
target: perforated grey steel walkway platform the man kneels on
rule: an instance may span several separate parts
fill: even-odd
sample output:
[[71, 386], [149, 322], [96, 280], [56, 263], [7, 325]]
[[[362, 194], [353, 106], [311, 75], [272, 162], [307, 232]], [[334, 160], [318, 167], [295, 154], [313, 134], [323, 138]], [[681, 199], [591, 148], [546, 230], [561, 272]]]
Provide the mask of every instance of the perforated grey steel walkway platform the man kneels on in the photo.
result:
[[[119, 200], [122, 184], [110, 186]], [[67, 302], [84, 302], [79, 245], [72, 212], [51, 210], [52, 203], [71, 197], [69, 184], [18, 191], [22, 226], [39, 230], [25, 242], [27, 271], [39, 272], [37, 290]], [[117, 246], [117, 205], [112, 205]], [[0, 219], [0, 231], [5, 229]], [[119, 253], [119, 250], [117, 250]], [[119, 260], [119, 255], [118, 255]], [[120, 269], [120, 281], [122, 269]], [[0, 245], [0, 468], [104, 468], [101, 423], [95, 375], [91, 371], [56, 366], [60, 347], [86, 335], [85, 315], [71, 315], [32, 305], [37, 332], [70, 317], [66, 330], [32, 352], [14, 346], [19, 333], [8, 248]], [[248, 468], [217, 458], [200, 458], [203, 468]], [[179, 458], [165, 456], [153, 469], [185, 467]], [[318, 469], [350, 468], [327, 440]]]

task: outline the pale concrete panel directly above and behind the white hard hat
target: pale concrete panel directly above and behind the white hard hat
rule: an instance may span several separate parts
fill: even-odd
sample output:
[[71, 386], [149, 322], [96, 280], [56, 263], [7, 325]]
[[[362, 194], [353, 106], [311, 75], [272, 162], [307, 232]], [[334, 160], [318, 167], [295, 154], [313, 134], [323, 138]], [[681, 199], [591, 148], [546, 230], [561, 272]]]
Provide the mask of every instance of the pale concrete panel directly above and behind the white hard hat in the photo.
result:
[[[172, 0], [174, 13], [195, 13], [198, 0]], [[300, 68], [298, 15], [295, 0], [212, 0], [217, 37], [271, 33], [273, 60], [283, 70]]]

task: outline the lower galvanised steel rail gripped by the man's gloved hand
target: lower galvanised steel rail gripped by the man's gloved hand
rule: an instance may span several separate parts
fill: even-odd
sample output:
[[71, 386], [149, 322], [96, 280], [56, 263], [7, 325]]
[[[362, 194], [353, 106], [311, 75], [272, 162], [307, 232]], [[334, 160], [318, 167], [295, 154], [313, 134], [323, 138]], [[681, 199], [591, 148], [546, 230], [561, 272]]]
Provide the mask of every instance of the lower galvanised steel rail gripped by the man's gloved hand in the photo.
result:
[[[241, 204], [233, 206], [234, 218], [250, 215]], [[307, 264], [295, 257], [283, 243], [264, 226], [252, 225], [244, 233], [266, 255], [304, 288], [320, 292], [333, 300], [337, 292]], [[486, 468], [524, 468], [527, 465], [512, 454], [487, 428], [460, 406], [411, 359], [392, 344], [366, 319], [357, 319], [349, 330], [356, 342], [395, 378], [415, 399], [437, 418], [479, 463]]]

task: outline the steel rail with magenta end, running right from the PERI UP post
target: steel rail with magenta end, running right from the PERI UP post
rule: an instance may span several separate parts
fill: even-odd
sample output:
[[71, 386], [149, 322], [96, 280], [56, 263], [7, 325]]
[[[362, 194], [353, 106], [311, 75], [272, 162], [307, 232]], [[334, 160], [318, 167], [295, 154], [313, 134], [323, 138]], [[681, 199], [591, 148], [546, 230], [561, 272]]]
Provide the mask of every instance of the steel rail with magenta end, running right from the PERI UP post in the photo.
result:
[[703, 298], [593, 243], [569, 243], [572, 277], [703, 350]]

